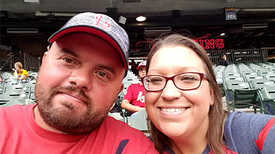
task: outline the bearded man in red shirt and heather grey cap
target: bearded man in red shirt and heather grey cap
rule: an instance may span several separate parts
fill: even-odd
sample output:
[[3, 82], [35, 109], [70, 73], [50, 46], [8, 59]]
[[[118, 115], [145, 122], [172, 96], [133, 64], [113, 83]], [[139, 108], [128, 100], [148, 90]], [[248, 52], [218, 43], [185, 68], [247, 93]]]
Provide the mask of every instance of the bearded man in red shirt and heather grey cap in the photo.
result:
[[124, 29], [87, 12], [49, 42], [37, 104], [0, 108], [0, 153], [157, 153], [141, 131], [107, 116], [128, 69]]

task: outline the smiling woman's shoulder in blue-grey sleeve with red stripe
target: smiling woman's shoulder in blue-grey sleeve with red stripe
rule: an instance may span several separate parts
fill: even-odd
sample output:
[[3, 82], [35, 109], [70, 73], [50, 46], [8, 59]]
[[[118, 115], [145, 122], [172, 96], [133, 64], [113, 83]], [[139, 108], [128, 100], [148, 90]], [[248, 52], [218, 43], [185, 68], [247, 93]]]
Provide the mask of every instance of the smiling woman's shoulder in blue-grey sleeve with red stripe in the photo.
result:
[[[230, 112], [225, 120], [224, 135], [228, 149], [242, 153], [243, 146], [261, 149], [265, 140], [274, 140], [275, 116], [267, 114], [250, 114], [244, 112]], [[268, 134], [268, 135], [267, 135]], [[269, 144], [265, 144], [268, 148]], [[273, 146], [273, 145], [272, 145]], [[238, 150], [237, 150], [238, 149]]]

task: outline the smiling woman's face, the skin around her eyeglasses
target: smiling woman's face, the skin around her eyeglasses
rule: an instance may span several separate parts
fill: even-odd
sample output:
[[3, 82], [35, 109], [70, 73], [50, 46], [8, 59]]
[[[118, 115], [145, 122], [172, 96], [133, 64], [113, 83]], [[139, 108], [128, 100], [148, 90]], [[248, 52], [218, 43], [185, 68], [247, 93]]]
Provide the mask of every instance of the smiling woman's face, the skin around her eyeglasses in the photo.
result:
[[[186, 47], [164, 47], [153, 55], [147, 75], [170, 77], [184, 72], [206, 74], [195, 51]], [[146, 111], [155, 127], [174, 141], [206, 138], [213, 95], [206, 79], [195, 90], [179, 90], [169, 80], [164, 90], [145, 92]]]

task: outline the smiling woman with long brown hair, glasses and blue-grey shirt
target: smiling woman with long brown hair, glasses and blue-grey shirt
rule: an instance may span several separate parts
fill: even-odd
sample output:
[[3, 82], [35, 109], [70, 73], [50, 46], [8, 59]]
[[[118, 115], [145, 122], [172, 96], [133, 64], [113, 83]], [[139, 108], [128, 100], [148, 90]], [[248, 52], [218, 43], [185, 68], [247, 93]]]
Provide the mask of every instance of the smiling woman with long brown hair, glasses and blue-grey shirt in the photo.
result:
[[275, 153], [274, 116], [223, 111], [212, 65], [197, 42], [177, 34], [157, 40], [146, 74], [148, 130], [159, 153]]

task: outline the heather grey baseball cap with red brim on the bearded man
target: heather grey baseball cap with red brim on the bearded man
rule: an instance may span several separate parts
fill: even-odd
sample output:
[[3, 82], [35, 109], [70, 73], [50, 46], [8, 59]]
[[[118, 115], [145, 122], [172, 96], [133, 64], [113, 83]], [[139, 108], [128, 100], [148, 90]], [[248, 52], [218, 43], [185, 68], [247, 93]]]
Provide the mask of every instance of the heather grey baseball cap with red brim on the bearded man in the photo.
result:
[[107, 40], [120, 54], [126, 70], [125, 72], [127, 73], [129, 62], [129, 36], [111, 17], [92, 12], [77, 14], [69, 19], [61, 29], [56, 31], [48, 39], [48, 42], [52, 43], [58, 38], [61, 38], [61, 36], [74, 32], [94, 34]]

